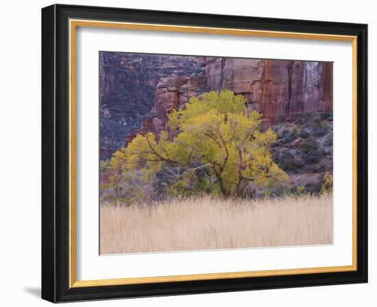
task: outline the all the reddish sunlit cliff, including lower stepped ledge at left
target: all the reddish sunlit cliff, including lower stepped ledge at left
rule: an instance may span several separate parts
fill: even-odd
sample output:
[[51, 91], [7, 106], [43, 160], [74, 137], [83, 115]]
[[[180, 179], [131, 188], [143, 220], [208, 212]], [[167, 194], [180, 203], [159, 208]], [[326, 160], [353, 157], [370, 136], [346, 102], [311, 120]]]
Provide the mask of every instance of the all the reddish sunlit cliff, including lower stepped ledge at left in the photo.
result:
[[205, 74], [163, 77], [156, 86], [151, 115], [143, 127], [128, 136], [165, 130], [167, 114], [182, 108], [194, 95], [208, 90], [233, 90], [245, 97], [248, 110], [263, 114], [263, 125], [294, 119], [304, 112], [332, 108], [332, 63], [291, 60], [210, 58]]

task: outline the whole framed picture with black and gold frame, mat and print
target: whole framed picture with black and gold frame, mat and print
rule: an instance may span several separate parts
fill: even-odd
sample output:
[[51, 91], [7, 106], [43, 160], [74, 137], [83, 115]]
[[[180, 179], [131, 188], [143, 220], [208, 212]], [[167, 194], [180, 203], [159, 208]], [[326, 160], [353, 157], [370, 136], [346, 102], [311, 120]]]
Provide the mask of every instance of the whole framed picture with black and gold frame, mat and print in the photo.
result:
[[42, 9], [42, 298], [367, 282], [367, 25]]

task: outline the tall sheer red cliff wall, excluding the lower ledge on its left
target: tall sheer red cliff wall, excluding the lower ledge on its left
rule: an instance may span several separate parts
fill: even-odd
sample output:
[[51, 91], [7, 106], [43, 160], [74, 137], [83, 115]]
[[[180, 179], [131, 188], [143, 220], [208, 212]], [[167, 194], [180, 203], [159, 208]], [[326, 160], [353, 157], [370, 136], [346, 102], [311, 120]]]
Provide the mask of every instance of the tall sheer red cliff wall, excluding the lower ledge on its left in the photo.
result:
[[206, 76], [211, 89], [244, 95], [267, 127], [279, 118], [332, 108], [329, 62], [207, 58]]

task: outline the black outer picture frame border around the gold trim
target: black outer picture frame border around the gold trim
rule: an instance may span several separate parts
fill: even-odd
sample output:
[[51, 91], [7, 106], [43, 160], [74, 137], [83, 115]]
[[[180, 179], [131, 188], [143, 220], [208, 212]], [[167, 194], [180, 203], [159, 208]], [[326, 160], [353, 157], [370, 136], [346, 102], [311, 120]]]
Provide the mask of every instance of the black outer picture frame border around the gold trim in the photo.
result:
[[[356, 36], [356, 271], [70, 287], [69, 19]], [[51, 5], [42, 9], [43, 299], [56, 303], [367, 282], [367, 184], [367, 25], [77, 5]]]

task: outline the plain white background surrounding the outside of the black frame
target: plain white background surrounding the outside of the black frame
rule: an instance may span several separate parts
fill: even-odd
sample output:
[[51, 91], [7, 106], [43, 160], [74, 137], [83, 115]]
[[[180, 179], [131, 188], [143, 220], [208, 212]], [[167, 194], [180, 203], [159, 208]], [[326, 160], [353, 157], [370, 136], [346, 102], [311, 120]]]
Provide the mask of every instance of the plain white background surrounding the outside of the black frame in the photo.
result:
[[[47, 306], [40, 296], [40, 8], [52, 1], [3, 1], [0, 48], [0, 302], [3, 306]], [[289, 19], [313, 19], [369, 24], [369, 284], [290, 288], [208, 295], [185, 295], [75, 306], [376, 306], [374, 265], [377, 228], [377, 108], [374, 58], [377, 37], [373, 1], [177, 1], [81, 0], [60, 3], [125, 8], [241, 14]], [[66, 306], [73, 306], [67, 304]]]

